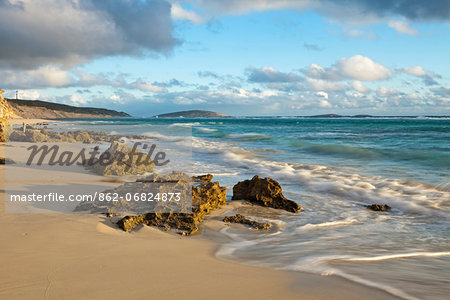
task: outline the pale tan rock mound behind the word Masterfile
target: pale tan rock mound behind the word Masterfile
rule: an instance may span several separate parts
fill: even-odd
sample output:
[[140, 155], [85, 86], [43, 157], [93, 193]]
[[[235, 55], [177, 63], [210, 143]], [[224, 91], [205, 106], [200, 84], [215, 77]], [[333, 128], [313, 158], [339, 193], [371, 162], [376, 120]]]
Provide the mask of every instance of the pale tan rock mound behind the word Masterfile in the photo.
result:
[[92, 168], [103, 176], [143, 175], [153, 171], [154, 164], [148, 154], [117, 141], [113, 141], [102, 155], [107, 163], [98, 160]]

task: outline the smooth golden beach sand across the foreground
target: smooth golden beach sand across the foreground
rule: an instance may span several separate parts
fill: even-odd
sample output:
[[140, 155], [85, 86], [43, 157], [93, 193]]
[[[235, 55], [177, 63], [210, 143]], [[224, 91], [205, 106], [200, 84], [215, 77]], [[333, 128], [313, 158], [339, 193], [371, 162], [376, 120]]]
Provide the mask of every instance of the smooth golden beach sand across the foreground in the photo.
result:
[[[2, 145], [0, 156], [3, 151]], [[334, 276], [217, 259], [218, 230], [225, 226], [217, 215], [229, 205], [191, 237], [151, 227], [125, 233], [101, 215], [6, 213], [11, 172], [23, 169], [8, 166], [5, 174], [0, 166], [0, 299], [395, 299]], [[100, 178], [97, 184], [106, 184]]]

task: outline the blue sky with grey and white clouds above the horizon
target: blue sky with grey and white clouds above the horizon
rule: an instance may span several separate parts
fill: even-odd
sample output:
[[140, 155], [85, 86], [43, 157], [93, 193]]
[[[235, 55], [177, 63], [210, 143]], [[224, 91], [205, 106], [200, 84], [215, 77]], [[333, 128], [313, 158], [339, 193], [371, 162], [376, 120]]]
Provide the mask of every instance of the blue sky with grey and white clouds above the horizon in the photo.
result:
[[0, 0], [0, 88], [136, 117], [450, 115], [450, 1]]

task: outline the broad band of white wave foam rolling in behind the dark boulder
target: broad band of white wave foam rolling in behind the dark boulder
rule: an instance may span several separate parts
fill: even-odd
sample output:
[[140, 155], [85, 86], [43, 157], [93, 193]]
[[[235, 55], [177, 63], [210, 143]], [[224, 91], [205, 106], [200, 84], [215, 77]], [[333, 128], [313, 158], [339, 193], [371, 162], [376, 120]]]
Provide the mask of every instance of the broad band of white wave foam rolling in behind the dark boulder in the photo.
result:
[[[364, 203], [385, 203], [394, 209], [412, 213], [448, 216], [450, 192], [417, 182], [388, 179], [378, 176], [349, 174], [337, 168], [302, 165], [256, 159], [248, 151], [232, 144], [202, 139], [193, 142], [195, 151], [222, 154], [223, 163], [245, 168], [254, 174], [271, 176], [284, 182], [296, 183], [302, 189], [329, 193]], [[198, 148], [201, 148], [200, 150]]]

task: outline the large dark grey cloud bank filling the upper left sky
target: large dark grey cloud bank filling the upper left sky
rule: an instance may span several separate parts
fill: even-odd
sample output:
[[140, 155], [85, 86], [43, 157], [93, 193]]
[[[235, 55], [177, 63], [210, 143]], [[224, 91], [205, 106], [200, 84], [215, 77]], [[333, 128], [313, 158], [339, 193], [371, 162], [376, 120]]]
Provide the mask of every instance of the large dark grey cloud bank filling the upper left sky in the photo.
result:
[[168, 53], [179, 43], [172, 30], [163, 0], [0, 0], [0, 67]]

